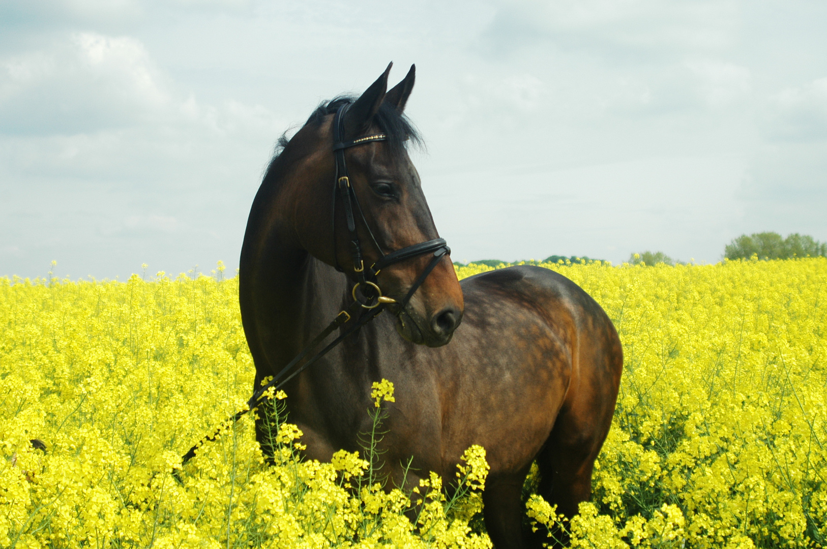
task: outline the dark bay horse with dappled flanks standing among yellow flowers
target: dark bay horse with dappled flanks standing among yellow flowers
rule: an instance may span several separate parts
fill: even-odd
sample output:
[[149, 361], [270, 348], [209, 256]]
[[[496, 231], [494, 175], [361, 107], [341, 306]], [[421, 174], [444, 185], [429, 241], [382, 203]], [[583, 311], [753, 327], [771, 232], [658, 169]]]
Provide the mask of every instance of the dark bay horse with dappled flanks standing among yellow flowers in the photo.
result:
[[[241, 248], [254, 389], [353, 304], [366, 265], [423, 242], [427, 252], [439, 245], [375, 274], [389, 313], [284, 385], [288, 420], [304, 432], [307, 458], [358, 451], [370, 427], [371, 384], [392, 381], [396, 401], [387, 403], [381, 442], [389, 484], [411, 488], [429, 471], [453, 479], [463, 451], [483, 446], [485, 527], [498, 549], [527, 547], [537, 540], [523, 532], [520, 496], [533, 461], [539, 493], [566, 516], [590, 498], [623, 353], [600, 305], [561, 274], [524, 265], [457, 280], [406, 151], [418, 141], [404, 115], [414, 70], [387, 90], [389, 65], [359, 98], [322, 103], [291, 139], [280, 139]], [[353, 316], [339, 333], [355, 326]], [[271, 455], [268, 413], [260, 408], [256, 438]]]

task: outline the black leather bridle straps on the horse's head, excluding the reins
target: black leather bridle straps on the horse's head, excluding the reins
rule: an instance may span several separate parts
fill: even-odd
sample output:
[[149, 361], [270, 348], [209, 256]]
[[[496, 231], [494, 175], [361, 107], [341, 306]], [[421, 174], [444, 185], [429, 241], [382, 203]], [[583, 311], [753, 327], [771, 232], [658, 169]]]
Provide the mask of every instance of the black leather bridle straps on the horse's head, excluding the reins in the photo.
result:
[[[353, 287], [353, 298], [358, 300], [359, 298], [356, 297], [356, 289], [361, 286], [361, 294], [366, 298], [366, 303], [362, 303], [361, 306], [364, 308], [376, 308], [379, 307], [380, 304], [390, 304], [390, 303], [397, 303], [399, 305], [399, 309], [397, 311], [397, 316], [402, 313], [405, 306], [408, 304], [410, 298], [414, 295], [416, 290], [423, 284], [425, 279], [428, 277], [428, 274], [431, 273], [434, 267], [437, 266], [439, 260], [442, 259], [443, 255], [450, 254], [451, 248], [447, 246], [447, 243], [442, 238], [435, 238], [430, 241], [420, 242], [419, 244], [414, 244], [413, 246], [405, 246], [404, 248], [396, 251], [390, 252], [390, 254], [385, 255], [382, 251], [382, 247], [379, 245], [379, 242], [376, 241], [376, 237], [373, 235], [373, 232], [370, 231], [370, 225], [368, 225], [367, 220], [365, 219], [365, 214], [362, 213], [361, 206], [359, 205], [359, 200], [356, 198], [356, 191], [354, 191], [353, 187], [351, 186], [351, 179], [350, 176], [347, 174], [347, 163], [345, 162], [345, 150], [351, 147], [366, 145], [368, 143], [372, 143], [374, 141], [387, 141], [387, 136], [384, 133], [378, 133], [373, 136], [364, 136], [359, 137], [353, 141], [342, 141], [342, 136], [344, 135], [344, 115], [347, 112], [348, 107], [350, 107], [350, 103], [345, 103], [342, 107], [339, 107], [336, 111], [336, 115], [333, 117], [333, 155], [336, 157], [336, 179], [334, 180], [333, 184], [333, 255], [334, 260], [336, 261], [336, 268], [337, 270], [344, 271], [342, 267], [339, 266], [338, 257], [336, 255], [336, 204], [337, 198], [338, 201], [342, 203], [342, 207], [345, 209], [345, 219], [347, 220], [347, 232], [350, 236], [350, 243], [351, 243], [351, 258], [353, 260], [353, 272], [356, 274], [356, 279], [358, 282], [356, 286]], [[356, 205], [356, 209], [354, 209], [354, 205]], [[359, 235], [356, 231], [356, 217], [354, 216], [354, 212], [359, 214], [359, 218], [361, 219], [362, 227], [365, 227], [368, 236], [370, 236], [370, 243], [373, 244], [373, 247], [376, 251], [379, 252], [380, 259], [377, 260], [373, 265], [370, 265], [368, 269], [365, 269], [365, 260], [362, 256], [361, 244], [359, 241]], [[401, 301], [396, 301], [393, 298], [388, 298], [382, 295], [382, 291], [379, 288], [379, 285], [376, 284], [376, 275], [379, 274], [380, 270], [385, 269], [390, 265], [394, 265], [395, 263], [399, 263], [400, 261], [408, 260], [412, 257], [418, 257], [419, 255], [425, 255], [428, 253], [433, 252], [433, 259], [419, 274], [416, 280], [414, 280], [414, 284], [411, 285], [410, 289], [408, 290], [408, 294], [402, 298]], [[375, 300], [375, 303], [373, 303]]]

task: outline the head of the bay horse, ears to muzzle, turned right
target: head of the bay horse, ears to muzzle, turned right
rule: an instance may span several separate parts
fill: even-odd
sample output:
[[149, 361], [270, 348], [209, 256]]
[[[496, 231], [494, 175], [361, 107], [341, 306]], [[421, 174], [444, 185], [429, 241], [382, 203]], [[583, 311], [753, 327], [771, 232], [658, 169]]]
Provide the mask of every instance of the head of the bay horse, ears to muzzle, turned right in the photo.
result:
[[[289, 200], [295, 208], [290, 217], [297, 239], [318, 259], [342, 269], [353, 284], [364, 276], [358, 272], [362, 266], [370, 275], [370, 265], [392, 252], [438, 238], [419, 174], [405, 149], [407, 142], [418, 139], [403, 113], [414, 87], [414, 66], [387, 91], [389, 72], [390, 65], [355, 101], [338, 98], [323, 104], [284, 150], [296, 155], [290, 179], [301, 182], [291, 185], [295, 199]], [[341, 178], [342, 160], [337, 172], [334, 153], [334, 119], [340, 110], [337, 141], [358, 143], [343, 149], [347, 181]], [[360, 142], [364, 136], [377, 140]], [[352, 192], [342, 192], [344, 184]], [[353, 259], [356, 246], [364, 265]], [[429, 267], [433, 270], [404, 303]], [[435, 259], [432, 250], [383, 266], [375, 284], [386, 302], [396, 302], [386, 306], [397, 315], [402, 337], [428, 346], [451, 341], [463, 302], [449, 255]]]

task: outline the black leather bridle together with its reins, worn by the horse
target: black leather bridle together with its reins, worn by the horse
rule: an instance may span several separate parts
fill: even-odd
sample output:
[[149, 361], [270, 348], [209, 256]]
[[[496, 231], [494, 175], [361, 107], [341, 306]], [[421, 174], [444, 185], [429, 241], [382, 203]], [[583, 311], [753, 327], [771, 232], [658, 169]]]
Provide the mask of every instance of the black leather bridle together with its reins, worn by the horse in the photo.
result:
[[[356, 192], [353, 190], [351, 186], [350, 177], [347, 174], [347, 164], [345, 163], [345, 150], [349, 149], [354, 146], [365, 145], [367, 143], [372, 143], [373, 141], [387, 141], [387, 136], [385, 134], [375, 134], [373, 136], [365, 136], [359, 137], [353, 141], [342, 141], [343, 136], [343, 117], [345, 112], [347, 112], [347, 108], [350, 107], [350, 103], [345, 103], [341, 107], [338, 108], [336, 115], [333, 117], [333, 155], [336, 158], [336, 179], [333, 185], [333, 254], [334, 257], [336, 256], [336, 203], [337, 198], [342, 202], [342, 206], [345, 209], [345, 219], [347, 221], [347, 232], [348, 236], [350, 236], [350, 244], [351, 244], [351, 258], [353, 260], [353, 272], [356, 274], [356, 285], [353, 286], [351, 294], [353, 296], [353, 303], [344, 310], [342, 310], [337, 316], [333, 319], [333, 321], [327, 325], [327, 327], [318, 334], [318, 336], [313, 338], [313, 341], [310, 341], [307, 346], [299, 352], [298, 355], [294, 357], [293, 360], [290, 360], [287, 365], [284, 366], [280, 370], [280, 372], [273, 376], [273, 379], [270, 380], [269, 383], [262, 386], [260, 389], [257, 389], [255, 393], [253, 393], [252, 397], [247, 401], [247, 405], [245, 409], [242, 409], [235, 413], [231, 418], [227, 419], [227, 422], [237, 422], [241, 416], [249, 412], [251, 409], [256, 408], [256, 406], [260, 403], [261, 398], [267, 393], [269, 389], [275, 387], [274, 390], [281, 389], [284, 384], [286, 384], [289, 380], [292, 380], [296, 375], [299, 375], [300, 372], [308, 368], [309, 365], [312, 365], [318, 359], [322, 358], [330, 351], [333, 347], [337, 346], [339, 343], [342, 342], [345, 338], [350, 336], [353, 332], [356, 332], [359, 328], [366, 325], [368, 322], [373, 320], [379, 313], [385, 310], [385, 306], [390, 303], [396, 303], [399, 306], [399, 311], [396, 313], [399, 316], [403, 311], [404, 308], [408, 305], [410, 298], [414, 296], [414, 293], [417, 291], [419, 286], [423, 284], [426, 278], [428, 278], [428, 274], [431, 274], [431, 271], [434, 267], [437, 266], [442, 257], [445, 255], [449, 255], [451, 253], [451, 248], [447, 246], [447, 243], [442, 238], [435, 238], [430, 241], [420, 242], [419, 244], [414, 244], [413, 246], [406, 246], [401, 248], [400, 250], [392, 251], [390, 254], [385, 254], [382, 251], [381, 246], [376, 241], [375, 236], [373, 236], [373, 232], [370, 231], [370, 226], [367, 224], [365, 219], [365, 214], [362, 213], [361, 206], [359, 205], [359, 200], [356, 198]], [[376, 251], [379, 252], [380, 259], [376, 261], [373, 265], [370, 265], [367, 269], [365, 268], [365, 259], [362, 255], [361, 251], [361, 244], [359, 241], [359, 235], [356, 231], [356, 217], [354, 217], [354, 204], [356, 205], [355, 212], [358, 212], [359, 218], [361, 219], [362, 227], [365, 227], [368, 236], [370, 236], [370, 243], [373, 245]], [[386, 297], [382, 295], [382, 291], [377, 284], [376, 275], [379, 274], [380, 270], [385, 269], [385, 267], [389, 265], [394, 265], [395, 263], [399, 263], [400, 261], [409, 260], [412, 257], [418, 257], [419, 255], [425, 255], [428, 253], [433, 252], [433, 258], [428, 263], [428, 266], [419, 274], [416, 280], [414, 280], [414, 284], [411, 285], [410, 289], [408, 290], [408, 294], [402, 298], [401, 301], [397, 301], [393, 298]], [[336, 269], [339, 271], [344, 272], [342, 268], [338, 265], [338, 258], [336, 257]], [[357, 293], [356, 289], [359, 289], [361, 286], [361, 290]], [[361, 295], [360, 295], [361, 294]], [[366, 309], [366, 310], [363, 310]], [[361, 312], [361, 314], [360, 314]], [[329, 336], [334, 330], [339, 327], [344, 326], [347, 324], [352, 317], [358, 317], [356, 319], [353, 326], [348, 327], [347, 330], [339, 334], [339, 336], [324, 346], [321, 351], [316, 352], [313, 356], [311, 356], [308, 360], [304, 362], [304, 364], [300, 365], [298, 368], [295, 368], [296, 365], [301, 362], [305, 357], [307, 357], [313, 349], [321, 345], [321, 343]], [[292, 373], [290, 370], [293, 370]], [[284, 376], [287, 377], [284, 377]], [[284, 378], [284, 379], [282, 379]], [[204, 443], [208, 441], [214, 441], [218, 436], [219, 430], [213, 432], [212, 435], [207, 437], [203, 437], [198, 444], [193, 446], [189, 449], [189, 451], [181, 457], [181, 465], [187, 463], [187, 461], [191, 460], [195, 456], [195, 451]], [[179, 472], [178, 470], [173, 471], [173, 475], [176, 479], [180, 481]]]

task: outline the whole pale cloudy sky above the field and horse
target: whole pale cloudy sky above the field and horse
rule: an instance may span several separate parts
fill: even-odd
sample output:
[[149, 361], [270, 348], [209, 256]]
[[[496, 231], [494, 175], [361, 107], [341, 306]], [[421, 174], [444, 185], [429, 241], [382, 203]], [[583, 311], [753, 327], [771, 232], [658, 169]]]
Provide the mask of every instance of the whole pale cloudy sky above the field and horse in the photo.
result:
[[417, 66], [412, 158], [453, 260], [827, 241], [825, 21], [796, 0], [3, 0], [0, 276], [232, 272], [276, 139], [390, 61], [391, 85]]

